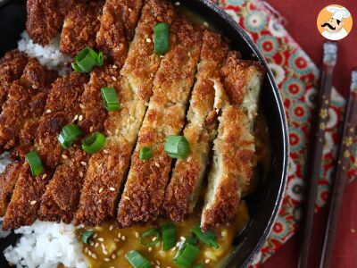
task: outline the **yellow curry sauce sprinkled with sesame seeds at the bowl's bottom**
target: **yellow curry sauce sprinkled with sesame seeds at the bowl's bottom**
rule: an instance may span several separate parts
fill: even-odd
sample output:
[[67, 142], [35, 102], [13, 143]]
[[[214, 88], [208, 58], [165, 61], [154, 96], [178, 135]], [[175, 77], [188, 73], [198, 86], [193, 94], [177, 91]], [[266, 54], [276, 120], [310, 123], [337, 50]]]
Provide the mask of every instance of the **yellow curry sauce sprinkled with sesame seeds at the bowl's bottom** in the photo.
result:
[[[173, 258], [179, 250], [179, 242], [191, 235], [191, 229], [200, 222], [201, 213], [191, 214], [185, 222], [175, 222], [177, 230], [177, 247], [168, 251], [162, 250], [162, 241], [154, 246], [147, 247], [140, 243], [140, 236], [146, 231], [157, 228], [168, 220], [160, 219], [155, 223], [146, 224], [145, 227], [135, 226], [127, 229], [118, 229], [110, 222], [103, 227], [79, 229], [80, 236], [84, 230], [94, 230], [95, 234], [89, 239], [88, 244], [83, 243], [83, 253], [87, 257], [90, 268], [104, 267], [131, 267], [125, 255], [131, 250], [137, 250], [146, 259], [152, 262], [152, 267], [179, 267], [174, 264]], [[220, 248], [208, 247], [202, 242], [198, 243], [200, 254], [195, 258], [194, 264], [203, 264], [204, 267], [217, 267], [224, 256], [228, 255], [237, 232], [243, 230], [249, 221], [248, 209], [242, 201], [239, 206], [237, 222], [228, 226], [213, 228]]]

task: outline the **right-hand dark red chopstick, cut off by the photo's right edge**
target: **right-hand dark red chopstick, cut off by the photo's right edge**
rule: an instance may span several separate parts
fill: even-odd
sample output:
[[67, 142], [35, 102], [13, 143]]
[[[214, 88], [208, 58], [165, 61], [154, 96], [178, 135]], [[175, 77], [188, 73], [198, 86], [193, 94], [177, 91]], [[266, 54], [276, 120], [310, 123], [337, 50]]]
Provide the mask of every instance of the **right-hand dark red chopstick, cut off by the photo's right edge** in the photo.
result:
[[320, 259], [320, 268], [328, 268], [336, 237], [336, 225], [344, 195], [346, 170], [350, 164], [351, 146], [357, 128], [357, 70], [352, 72], [350, 95], [345, 110], [345, 122], [342, 142], [338, 152], [338, 162], [333, 182], [331, 202], [328, 209], [328, 223], [325, 230], [324, 244]]

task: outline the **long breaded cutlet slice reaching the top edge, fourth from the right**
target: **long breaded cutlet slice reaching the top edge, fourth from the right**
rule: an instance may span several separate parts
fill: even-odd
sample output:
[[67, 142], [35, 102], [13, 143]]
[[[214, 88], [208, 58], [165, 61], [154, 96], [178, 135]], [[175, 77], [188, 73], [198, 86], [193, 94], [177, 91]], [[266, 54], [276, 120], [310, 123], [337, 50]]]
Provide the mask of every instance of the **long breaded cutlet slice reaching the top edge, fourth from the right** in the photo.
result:
[[105, 146], [90, 159], [75, 218], [77, 224], [101, 224], [115, 213], [120, 184], [128, 170], [161, 61], [154, 53], [154, 42], [148, 42], [147, 38], [153, 40], [156, 23], [170, 23], [172, 19], [173, 10], [168, 1], [145, 1], [128, 58], [120, 71], [120, 87], [116, 88], [120, 110], [109, 113], [105, 121]]

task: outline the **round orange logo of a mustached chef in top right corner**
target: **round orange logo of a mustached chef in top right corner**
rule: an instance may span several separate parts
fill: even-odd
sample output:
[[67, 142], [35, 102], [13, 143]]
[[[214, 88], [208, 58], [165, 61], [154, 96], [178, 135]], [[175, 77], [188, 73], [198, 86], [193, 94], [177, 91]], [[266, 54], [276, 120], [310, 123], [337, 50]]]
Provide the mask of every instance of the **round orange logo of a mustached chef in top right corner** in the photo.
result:
[[344, 6], [331, 4], [321, 10], [317, 25], [324, 38], [340, 40], [350, 33], [353, 19], [351, 13]]

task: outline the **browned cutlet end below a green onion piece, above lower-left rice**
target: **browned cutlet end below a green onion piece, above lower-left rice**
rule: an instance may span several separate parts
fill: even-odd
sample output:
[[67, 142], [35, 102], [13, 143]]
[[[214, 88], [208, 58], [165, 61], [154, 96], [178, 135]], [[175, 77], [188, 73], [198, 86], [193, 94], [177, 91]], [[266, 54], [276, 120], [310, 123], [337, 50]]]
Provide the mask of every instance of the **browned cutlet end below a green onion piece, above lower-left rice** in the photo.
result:
[[13, 190], [13, 195], [4, 216], [3, 229], [17, 229], [24, 225], [31, 225], [37, 218], [40, 198], [45, 192], [48, 172], [33, 177], [29, 164], [23, 163], [19, 179]]

